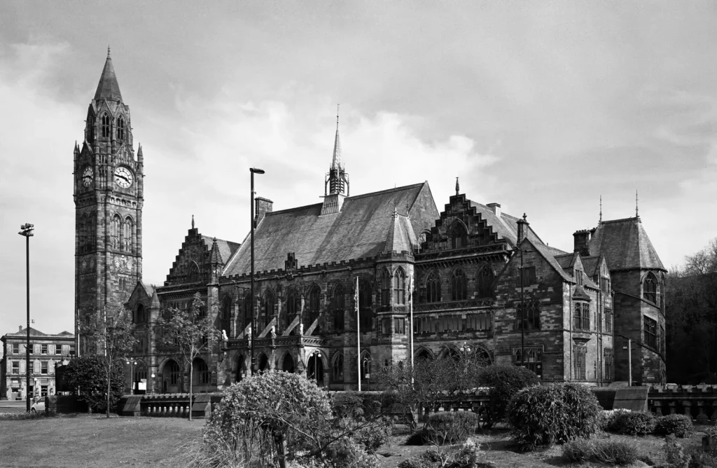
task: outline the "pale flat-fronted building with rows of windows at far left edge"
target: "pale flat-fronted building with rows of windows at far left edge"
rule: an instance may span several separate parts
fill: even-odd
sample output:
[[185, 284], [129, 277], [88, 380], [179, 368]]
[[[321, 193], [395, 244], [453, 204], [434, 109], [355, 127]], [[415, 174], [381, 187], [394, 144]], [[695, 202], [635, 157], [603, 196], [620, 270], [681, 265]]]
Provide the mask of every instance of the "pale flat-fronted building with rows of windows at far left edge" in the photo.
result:
[[[0, 398], [24, 400], [27, 396], [27, 328], [0, 337], [4, 356], [0, 360]], [[30, 395], [47, 396], [56, 391], [54, 367], [75, 355], [75, 335], [47, 334], [30, 327]], [[34, 393], [35, 392], [35, 393]]]

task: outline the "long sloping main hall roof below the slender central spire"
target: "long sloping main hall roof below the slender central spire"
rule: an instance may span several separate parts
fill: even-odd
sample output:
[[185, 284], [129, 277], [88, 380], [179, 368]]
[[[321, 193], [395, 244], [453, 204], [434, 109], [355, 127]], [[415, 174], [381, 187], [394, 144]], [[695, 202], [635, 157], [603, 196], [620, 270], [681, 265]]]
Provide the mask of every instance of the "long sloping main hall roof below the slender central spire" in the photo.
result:
[[[254, 233], [255, 271], [368, 258], [415, 245], [438, 217], [428, 183], [346, 197], [341, 211], [321, 216], [322, 204], [267, 212]], [[394, 211], [399, 213], [398, 222]], [[407, 216], [408, 215], [408, 216]], [[398, 225], [398, 226], [397, 226]], [[224, 276], [250, 273], [250, 238], [224, 267]]]

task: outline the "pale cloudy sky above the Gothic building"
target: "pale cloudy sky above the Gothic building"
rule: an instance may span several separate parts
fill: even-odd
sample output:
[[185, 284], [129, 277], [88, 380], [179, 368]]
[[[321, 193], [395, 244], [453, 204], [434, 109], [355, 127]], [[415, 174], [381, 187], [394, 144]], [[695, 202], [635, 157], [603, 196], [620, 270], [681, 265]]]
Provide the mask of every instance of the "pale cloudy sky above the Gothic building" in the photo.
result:
[[[717, 236], [709, 1], [6, 1], [0, 335], [72, 330], [72, 149], [108, 45], [145, 159], [143, 280], [194, 215], [241, 242], [249, 167], [274, 209], [320, 202], [341, 103], [351, 194], [455, 177], [549, 245], [639, 214], [666, 268]], [[136, 149], [136, 148], [135, 148]]]

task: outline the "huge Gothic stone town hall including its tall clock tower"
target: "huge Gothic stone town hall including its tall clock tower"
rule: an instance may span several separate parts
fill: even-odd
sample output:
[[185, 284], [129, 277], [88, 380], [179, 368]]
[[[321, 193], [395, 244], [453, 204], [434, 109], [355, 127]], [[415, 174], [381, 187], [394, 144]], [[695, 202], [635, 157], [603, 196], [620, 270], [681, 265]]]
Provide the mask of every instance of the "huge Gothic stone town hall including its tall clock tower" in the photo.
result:
[[186, 390], [189, 375], [156, 324], [196, 293], [226, 334], [194, 362], [197, 391], [247, 375], [252, 340], [258, 368], [338, 390], [356, 388], [359, 375], [366, 388], [371, 368], [411, 352], [432, 358], [461, 347], [526, 365], [546, 382], [607, 385], [627, 380], [616, 339], [625, 334], [645, 345], [633, 354], [634, 380], [664, 381], [665, 269], [639, 217], [577, 231], [568, 253], [544, 243], [525, 215], [468, 200], [458, 184], [442, 212], [427, 182], [351, 196], [338, 126], [323, 202], [274, 211], [256, 200], [254, 296], [248, 235], [213, 238], [194, 219], [166, 281], [144, 284], [143, 156], [134, 159], [128, 121], [108, 57], [75, 149], [77, 314], [121, 303], [131, 311], [135, 388]]

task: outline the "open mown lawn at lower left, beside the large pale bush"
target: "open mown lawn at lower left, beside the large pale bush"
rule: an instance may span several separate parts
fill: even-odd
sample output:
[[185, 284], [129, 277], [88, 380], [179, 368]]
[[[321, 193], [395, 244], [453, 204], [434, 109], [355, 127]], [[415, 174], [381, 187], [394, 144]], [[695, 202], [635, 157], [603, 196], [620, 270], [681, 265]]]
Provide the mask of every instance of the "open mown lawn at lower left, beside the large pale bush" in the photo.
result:
[[63, 415], [0, 421], [2, 467], [176, 467], [204, 420]]

